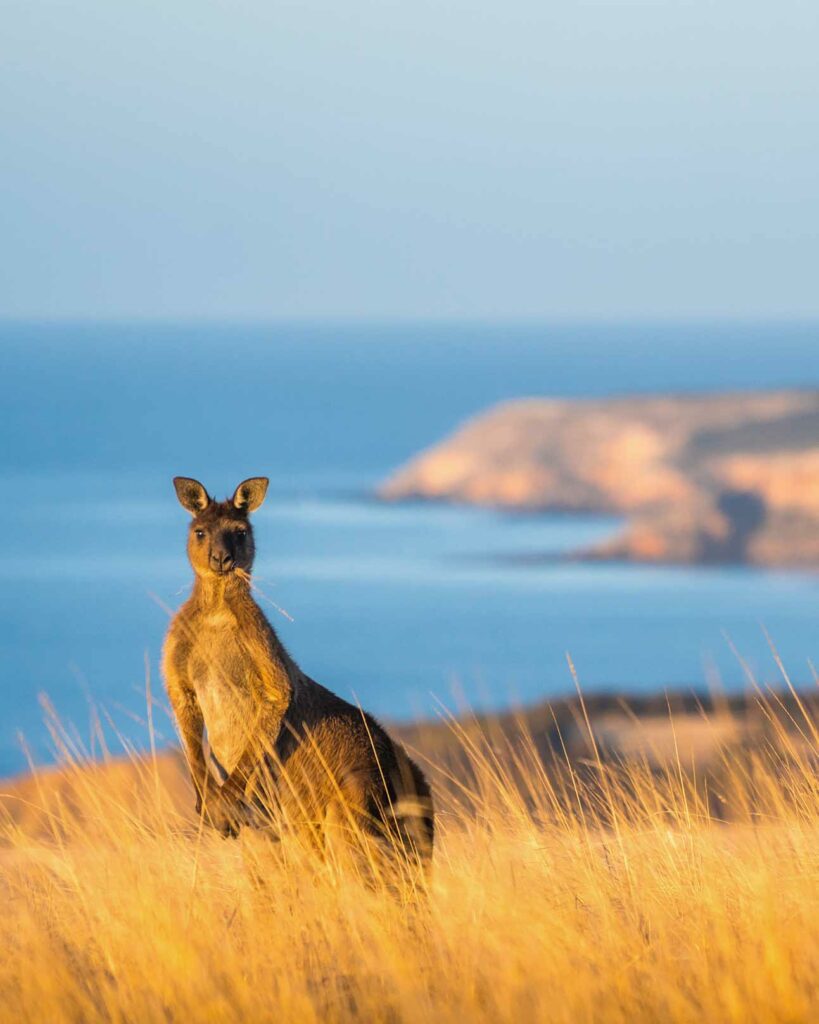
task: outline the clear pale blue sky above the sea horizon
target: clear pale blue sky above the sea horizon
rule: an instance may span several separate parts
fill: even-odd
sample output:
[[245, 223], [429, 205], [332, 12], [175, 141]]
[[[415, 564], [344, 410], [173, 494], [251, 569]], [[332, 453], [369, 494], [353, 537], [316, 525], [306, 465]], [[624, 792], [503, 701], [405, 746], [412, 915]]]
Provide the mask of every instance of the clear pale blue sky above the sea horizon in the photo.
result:
[[819, 316], [815, 0], [4, 0], [0, 316]]

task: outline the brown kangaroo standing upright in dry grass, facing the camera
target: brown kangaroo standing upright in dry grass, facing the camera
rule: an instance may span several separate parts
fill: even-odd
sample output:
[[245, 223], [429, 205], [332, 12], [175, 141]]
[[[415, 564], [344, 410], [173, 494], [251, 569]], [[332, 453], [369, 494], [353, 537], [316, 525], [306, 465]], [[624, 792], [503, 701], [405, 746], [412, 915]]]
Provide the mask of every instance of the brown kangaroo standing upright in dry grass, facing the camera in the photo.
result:
[[434, 816], [423, 772], [374, 718], [299, 669], [253, 598], [249, 516], [267, 478], [245, 480], [224, 502], [198, 480], [173, 483], [192, 516], [195, 579], [168, 630], [163, 673], [197, 813], [225, 836], [276, 811], [319, 838], [347, 822], [428, 862]]

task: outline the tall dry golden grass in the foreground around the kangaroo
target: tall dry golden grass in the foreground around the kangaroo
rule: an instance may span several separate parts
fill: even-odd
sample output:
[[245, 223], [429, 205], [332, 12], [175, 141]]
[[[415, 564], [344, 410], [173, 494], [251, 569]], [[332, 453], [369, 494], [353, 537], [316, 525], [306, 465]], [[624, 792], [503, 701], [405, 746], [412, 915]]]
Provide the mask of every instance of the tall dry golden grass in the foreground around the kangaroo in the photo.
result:
[[815, 1021], [817, 737], [779, 732], [707, 782], [463, 733], [426, 891], [202, 830], [171, 756], [75, 760], [2, 805], [0, 1017]]

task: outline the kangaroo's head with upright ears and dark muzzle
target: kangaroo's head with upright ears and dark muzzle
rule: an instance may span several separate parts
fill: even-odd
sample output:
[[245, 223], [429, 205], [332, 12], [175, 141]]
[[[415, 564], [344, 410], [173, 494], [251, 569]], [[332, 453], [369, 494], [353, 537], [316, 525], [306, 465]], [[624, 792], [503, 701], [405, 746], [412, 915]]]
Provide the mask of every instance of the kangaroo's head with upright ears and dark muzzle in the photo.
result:
[[187, 557], [199, 577], [220, 577], [241, 569], [250, 572], [256, 549], [248, 518], [264, 501], [267, 477], [240, 483], [233, 497], [214, 501], [199, 480], [175, 476], [173, 485], [182, 508], [192, 515], [187, 535]]

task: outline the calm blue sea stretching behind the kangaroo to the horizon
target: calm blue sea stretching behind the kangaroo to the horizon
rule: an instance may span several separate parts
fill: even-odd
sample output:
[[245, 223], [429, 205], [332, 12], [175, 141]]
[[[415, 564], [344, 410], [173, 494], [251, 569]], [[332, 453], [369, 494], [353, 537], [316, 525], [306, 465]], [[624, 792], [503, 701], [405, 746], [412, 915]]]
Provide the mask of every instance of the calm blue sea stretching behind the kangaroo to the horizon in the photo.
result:
[[567, 652], [590, 692], [775, 682], [766, 630], [795, 682], [819, 663], [810, 572], [525, 564], [618, 524], [373, 499], [502, 399], [819, 386], [816, 325], [6, 323], [0, 375], [0, 775], [25, 767], [20, 735], [50, 756], [40, 694], [79, 741], [99, 715], [114, 748], [115, 729], [145, 743], [190, 583], [175, 474], [219, 497], [270, 477], [265, 609], [310, 675], [387, 720], [563, 695]]

